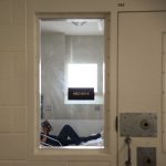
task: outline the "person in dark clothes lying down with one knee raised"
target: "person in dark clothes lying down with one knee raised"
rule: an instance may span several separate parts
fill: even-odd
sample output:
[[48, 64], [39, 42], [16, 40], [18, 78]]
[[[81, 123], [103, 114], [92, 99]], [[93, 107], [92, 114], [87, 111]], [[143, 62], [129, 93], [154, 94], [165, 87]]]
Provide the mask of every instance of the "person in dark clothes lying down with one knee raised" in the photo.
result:
[[52, 129], [50, 123], [44, 121], [41, 126], [41, 144], [46, 146], [80, 145], [81, 143], [101, 138], [101, 133], [81, 137], [70, 125], [64, 125], [59, 135], [50, 135], [49, 133]]

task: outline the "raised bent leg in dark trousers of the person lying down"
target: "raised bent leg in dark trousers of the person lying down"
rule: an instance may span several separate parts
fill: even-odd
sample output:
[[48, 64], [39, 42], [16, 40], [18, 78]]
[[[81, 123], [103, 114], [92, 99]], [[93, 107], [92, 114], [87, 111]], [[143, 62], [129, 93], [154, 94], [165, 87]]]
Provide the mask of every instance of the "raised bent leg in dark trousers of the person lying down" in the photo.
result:
[[70, 144], [79, 145], [81, 143], [80, 136], [70, 125], [64, 125], [58, 138], [60, 139], [62, 145], [70, 145]]

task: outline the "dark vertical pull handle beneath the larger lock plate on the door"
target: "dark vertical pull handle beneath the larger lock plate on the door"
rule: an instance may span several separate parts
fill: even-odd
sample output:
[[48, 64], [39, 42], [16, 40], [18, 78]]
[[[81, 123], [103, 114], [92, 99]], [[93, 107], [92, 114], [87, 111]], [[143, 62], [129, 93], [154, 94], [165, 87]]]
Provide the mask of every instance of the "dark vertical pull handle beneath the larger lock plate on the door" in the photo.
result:
[[132, 166], [131, 142], [132, 142], [131, 137], [127, 136], [127, 137], [125, 138], [125, 143], [126, 143], [126, 145], [127, 145], [127, 155], [128, 155], [128, 157], [127, 157], [127, 160], [125, 162], [125, 166]]

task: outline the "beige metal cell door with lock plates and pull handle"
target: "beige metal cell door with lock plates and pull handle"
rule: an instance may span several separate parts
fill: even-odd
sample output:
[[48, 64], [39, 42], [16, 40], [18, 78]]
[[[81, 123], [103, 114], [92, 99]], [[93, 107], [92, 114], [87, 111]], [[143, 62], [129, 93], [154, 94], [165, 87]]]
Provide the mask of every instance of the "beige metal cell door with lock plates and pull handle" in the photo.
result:
[[166, 12], [118, 13], [118, 166], [164, 166]]

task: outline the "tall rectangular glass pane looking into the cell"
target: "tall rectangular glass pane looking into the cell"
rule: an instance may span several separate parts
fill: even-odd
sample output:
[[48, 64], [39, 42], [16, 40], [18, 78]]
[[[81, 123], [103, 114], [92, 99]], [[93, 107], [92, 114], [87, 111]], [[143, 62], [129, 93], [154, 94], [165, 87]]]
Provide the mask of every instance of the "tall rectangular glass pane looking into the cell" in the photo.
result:
[[40, 38], [40, 147], [103, 148], [104, 19], [41, 19]]

